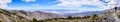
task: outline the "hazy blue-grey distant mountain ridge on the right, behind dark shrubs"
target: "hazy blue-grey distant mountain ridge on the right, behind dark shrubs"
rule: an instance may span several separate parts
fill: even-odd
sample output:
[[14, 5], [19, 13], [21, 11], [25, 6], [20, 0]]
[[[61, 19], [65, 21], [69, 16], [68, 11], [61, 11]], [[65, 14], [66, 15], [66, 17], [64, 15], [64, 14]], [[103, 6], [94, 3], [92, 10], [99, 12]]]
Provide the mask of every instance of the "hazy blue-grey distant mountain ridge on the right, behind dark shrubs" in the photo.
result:
[[105, 14], [106, 12], [114, 12], [114, 8], [112, 9], [107, 9], [107, 10], [103, 10], [103, 11], [90, 11], [90, 12], [78, 12], [78, 13], [66, 13], [64, 14], [64, 16], [74, 16], [74, 17], [84, 17], [84, 16], [92, 16], [94, 14], [97, 14], [97, 15], [103, 15]]

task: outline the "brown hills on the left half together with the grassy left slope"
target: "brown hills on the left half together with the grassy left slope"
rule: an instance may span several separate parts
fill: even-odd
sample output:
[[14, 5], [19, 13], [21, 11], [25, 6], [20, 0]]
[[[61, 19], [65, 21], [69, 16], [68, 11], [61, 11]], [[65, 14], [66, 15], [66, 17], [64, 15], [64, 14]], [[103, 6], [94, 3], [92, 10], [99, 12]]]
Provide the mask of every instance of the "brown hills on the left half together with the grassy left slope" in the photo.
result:
[[[58, 15], [56, 13], [44, 13], [41, 11], [24, 11], [24, 10], [5, 10], [0, 9], [0, 21], [2, 22], [16, 22], [16, 21], [24, 21], [29, 22], [33, 18], [37, 20], [42, 19], [50, 19], [50, 18], [56, 18], [56, 17], [63, 17], [61, 15]], [[12, 20], [12, 21], [6, 21], [6, 20]]]

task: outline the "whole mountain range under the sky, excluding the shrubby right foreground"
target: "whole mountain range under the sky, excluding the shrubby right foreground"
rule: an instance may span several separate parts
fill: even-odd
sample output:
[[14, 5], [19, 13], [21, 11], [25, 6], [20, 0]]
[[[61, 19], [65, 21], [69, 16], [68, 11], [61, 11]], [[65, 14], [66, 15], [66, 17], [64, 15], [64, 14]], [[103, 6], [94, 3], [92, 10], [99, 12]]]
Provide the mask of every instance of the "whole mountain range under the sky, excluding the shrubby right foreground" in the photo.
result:
[[[61, 11], [61, 10], [58, 10]], [[67, 10], [70, 11], [70, 10]], [[78, 12], [78, 13], [49, 13], [43, 11], [25, 11], [25, 10], [7, 10], [0, 9], [0, 21], [1, 22], [31, 22], [34, 18], [37, 20], [52, 19], [52, 18], [67, 18], [72, 17], [84, 17], [92, 16], [94, 14], [104, 15], [106, 12], [114, 12], [113, 9], [104, 11], [90, 11], [90, 12]]]

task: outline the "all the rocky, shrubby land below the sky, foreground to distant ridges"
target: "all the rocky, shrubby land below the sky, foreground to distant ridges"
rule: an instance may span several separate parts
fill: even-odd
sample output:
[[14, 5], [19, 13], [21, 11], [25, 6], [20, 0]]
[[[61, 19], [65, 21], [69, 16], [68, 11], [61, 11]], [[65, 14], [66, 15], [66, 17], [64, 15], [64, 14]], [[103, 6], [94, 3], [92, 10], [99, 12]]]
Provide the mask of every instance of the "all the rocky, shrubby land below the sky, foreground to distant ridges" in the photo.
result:
[[[119, 8], [119, 7], [118, 7]], [[46, 13], [42, 11], [0, 9], [0, 22], [116, 22], [115, 8], [83, 13]], [[62, 14], [62, 13], [61, 13]]]

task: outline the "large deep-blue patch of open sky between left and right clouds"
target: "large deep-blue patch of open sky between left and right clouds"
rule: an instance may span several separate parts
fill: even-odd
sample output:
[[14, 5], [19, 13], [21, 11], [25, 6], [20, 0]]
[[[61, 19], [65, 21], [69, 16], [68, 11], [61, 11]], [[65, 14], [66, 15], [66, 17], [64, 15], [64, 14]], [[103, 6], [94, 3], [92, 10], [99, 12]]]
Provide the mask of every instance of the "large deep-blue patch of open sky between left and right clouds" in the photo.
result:
[[[21, 0], [12, 0], [12, 3], [9, 4], [11, 8], [26, 8], [26, 9], [47, 9], [47, 8], [54, 8], [51, 7], [55, 3], [51, 3], [55, 0], [37, 0], [34, 2], [24, 2]], [[56, 7], [55, 7], [56, 8]], [[58, 7], [59, 8], [59, 7]]]

